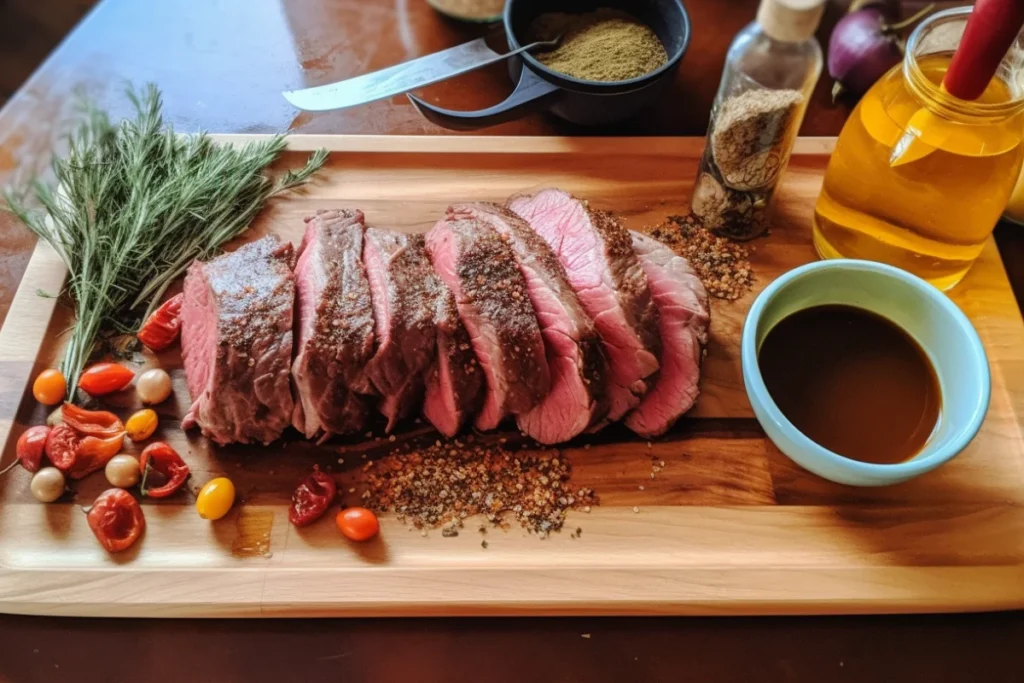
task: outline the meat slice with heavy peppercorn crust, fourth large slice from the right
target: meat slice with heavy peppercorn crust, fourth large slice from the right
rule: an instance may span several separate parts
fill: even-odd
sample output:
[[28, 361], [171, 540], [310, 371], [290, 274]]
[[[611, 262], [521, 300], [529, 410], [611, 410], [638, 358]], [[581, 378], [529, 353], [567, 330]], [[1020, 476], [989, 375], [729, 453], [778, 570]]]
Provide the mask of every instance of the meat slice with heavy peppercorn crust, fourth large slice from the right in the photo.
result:
[[512, 248], [488, 224], [450, 216], [427, 233], [434, 270], [455, 295], [486, 382], [476, 427], [537, 405], [551, 386], [544, 340]]

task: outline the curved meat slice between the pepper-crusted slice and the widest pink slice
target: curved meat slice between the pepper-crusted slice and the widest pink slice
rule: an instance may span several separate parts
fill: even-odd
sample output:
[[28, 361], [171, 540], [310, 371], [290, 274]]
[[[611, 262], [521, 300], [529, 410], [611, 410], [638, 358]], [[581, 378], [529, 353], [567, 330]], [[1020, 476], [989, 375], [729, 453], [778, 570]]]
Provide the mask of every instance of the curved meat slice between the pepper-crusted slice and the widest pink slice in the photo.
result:
[[512, 248], [537, 314], [551, 373], [551, 390], [516, 422], [541, 443], [567, 441], [608, 411], [601, 338], [569, 286], [565, 269], [541, 236], [497, 204], [458, 204], [449, 215], [487, 223]]

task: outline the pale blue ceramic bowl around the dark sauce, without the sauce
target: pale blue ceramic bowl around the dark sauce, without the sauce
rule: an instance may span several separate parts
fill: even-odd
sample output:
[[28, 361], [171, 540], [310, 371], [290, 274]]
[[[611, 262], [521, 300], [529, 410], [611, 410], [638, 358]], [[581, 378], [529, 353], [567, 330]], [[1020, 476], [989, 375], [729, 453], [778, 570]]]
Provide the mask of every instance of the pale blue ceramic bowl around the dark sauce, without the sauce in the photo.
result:
[[[902, 328], [928, 354], [938, 376], [942, 410], [932, 436], [910, 460], [876, 465], [818, 445], [782, 415], [768, 393], [758, 368], [761, 343], [783, 317], [824, 304], [846, 304], [882, 315]], [[924, 280], [872, 261], [818, 261], [773, 282], [746, 315], [740, 357], [746, 395], [765, 433], [798, 465], [839, 483], [883, 486], [929, 472], [971, 442], [988, 411], [988, 358], [971, 322]]]

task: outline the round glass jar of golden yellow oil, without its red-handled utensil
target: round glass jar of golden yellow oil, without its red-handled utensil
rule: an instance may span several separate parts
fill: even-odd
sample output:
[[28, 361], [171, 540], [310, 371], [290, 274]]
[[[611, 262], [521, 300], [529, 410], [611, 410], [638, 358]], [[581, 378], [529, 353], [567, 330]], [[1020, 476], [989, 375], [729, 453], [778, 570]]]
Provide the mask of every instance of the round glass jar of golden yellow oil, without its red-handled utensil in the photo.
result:
[[948, 289], [981, 253], [1024, 161], [1024, 51], [1018, 38], [977, 99], [950, 95], [942, 81], [970, 13], [922, 23], [850, 115], [814, 212], [822, 258], [883, 261]]

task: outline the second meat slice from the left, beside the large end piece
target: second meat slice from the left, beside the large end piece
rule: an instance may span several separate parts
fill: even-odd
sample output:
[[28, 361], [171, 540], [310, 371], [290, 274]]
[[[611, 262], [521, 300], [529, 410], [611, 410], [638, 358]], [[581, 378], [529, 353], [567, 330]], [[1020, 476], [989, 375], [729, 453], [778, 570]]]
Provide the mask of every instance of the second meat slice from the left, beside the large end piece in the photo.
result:
[[293, 423], [312, 438], [361, 431], [374, 387], [374, 312], [362, 265], [360, 211], [321, 211], [306, 219], [299, 263], [298, 335], [292, 376]]

